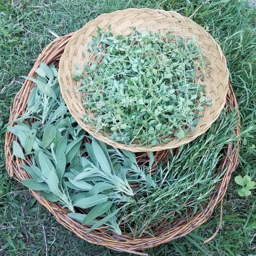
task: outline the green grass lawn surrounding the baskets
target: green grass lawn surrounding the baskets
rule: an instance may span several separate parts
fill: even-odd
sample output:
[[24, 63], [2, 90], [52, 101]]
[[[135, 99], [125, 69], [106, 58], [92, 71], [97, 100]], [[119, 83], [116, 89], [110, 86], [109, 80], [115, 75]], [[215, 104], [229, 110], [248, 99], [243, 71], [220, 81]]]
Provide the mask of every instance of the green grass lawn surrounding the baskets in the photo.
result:
[[[127, 255], [88, 244], [66, 230], [40, 206], [28, 190], [10, 180], [4, 168], [5, 131], [9, 107], [41, 50], [59, 36], [75, 31], [99, 14], [125, 8], [148, 7], [176, 10], [191, 16], [220, 43], [227, 58], [230, 80], [239, 101], [242, 129], [256, 120], [256, 9], [247, 1], [189, 0], [89, 0], [89, 1], [0, 1], [0, 255], [45, 255], [42, 224], [45, 224], [49, 255]], [[200, 8], [199, 8], [200, 7]], [[208, 244], [218, 226], [219, 206], [212, 218], [184, 238], [147, 252], [162, 255], [247, 256], [256, 250], [256, 191], [245, 198], [237, 195], [236, 175], [256, 178], [256, 136], [243, 137], [241, 163], [231, 177], [223, 202], [223, 222], [217, 236]], [[24, 205], [25, 219], [21, 207]], [[32, 242], [26, 241], [23, 224]]]

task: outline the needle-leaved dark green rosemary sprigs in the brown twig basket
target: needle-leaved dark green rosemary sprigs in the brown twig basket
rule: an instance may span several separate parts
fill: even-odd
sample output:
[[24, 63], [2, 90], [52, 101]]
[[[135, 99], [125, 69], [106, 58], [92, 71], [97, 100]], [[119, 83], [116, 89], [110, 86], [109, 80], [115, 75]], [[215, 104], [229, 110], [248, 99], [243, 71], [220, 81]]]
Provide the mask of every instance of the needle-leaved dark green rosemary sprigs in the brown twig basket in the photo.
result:
[[163, 216], [171, 223], [181, 214], [189, 218], [190, 209], [193, 213], [203, 209], [226, 171], [216, 172], [221, 151], [239, 138], [233, 133], [236, 120], [237, 110], [225, 111], [204, 135], [182, 145], [176, 154], [170, 151], [167, 166], [159, 165], [153, 176], [156, 188], [142, 188], [135, 202], [122, 211], [123, 220], [135, 225], [129, 227], [134, 236], [152, 234], [150, 226], [160, 224]]

